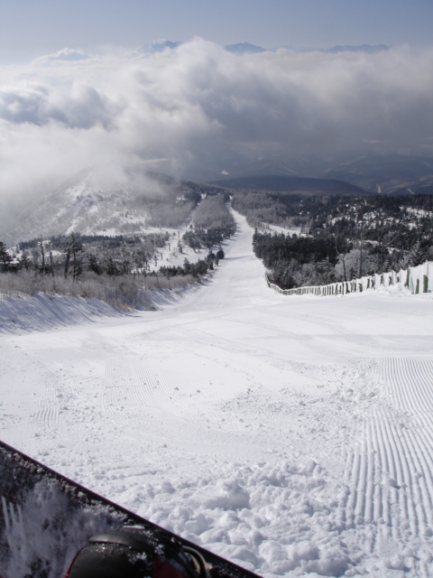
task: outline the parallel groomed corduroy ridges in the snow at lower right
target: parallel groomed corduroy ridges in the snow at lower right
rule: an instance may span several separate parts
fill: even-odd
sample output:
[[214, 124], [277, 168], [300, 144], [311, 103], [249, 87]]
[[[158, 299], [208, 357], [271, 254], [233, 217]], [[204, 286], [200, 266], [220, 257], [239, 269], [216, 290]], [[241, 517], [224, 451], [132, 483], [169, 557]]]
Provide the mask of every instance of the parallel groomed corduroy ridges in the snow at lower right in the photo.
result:
[[345, 456], [342, 523], [346, 529], [365, 527], [358, 535], [368, 536], [383, 573], [411, 570], [427, 577], [433, 545], [433, 358], [380, 358], [372, 365], [384, 395], [353, 427], [357, 443]]

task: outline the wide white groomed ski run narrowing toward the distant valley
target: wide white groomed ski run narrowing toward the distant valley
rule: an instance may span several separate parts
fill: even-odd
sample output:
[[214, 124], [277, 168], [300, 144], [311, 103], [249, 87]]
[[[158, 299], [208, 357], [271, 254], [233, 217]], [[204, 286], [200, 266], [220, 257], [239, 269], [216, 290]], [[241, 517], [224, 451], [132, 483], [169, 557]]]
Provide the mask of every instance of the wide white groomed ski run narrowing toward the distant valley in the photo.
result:
[[2, 439], [264, 576], [433, 575], [431, 294], [277, 294], [236, 219], [180, 303], [0, 336]]

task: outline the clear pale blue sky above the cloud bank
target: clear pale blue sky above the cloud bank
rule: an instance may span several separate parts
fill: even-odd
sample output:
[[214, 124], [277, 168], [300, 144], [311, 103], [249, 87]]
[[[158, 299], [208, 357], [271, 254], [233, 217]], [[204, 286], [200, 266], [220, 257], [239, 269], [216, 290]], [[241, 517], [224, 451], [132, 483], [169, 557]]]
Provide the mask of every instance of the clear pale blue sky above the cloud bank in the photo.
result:
[[160, 38], [327, 48], [426, 46], [432, 0], [0, 0], [0, 61]]

